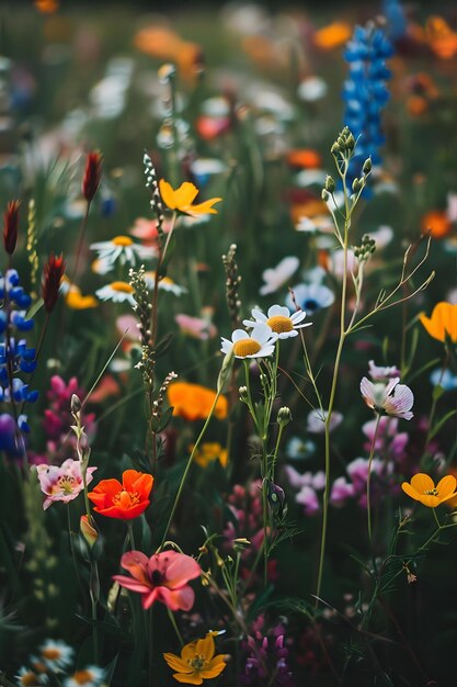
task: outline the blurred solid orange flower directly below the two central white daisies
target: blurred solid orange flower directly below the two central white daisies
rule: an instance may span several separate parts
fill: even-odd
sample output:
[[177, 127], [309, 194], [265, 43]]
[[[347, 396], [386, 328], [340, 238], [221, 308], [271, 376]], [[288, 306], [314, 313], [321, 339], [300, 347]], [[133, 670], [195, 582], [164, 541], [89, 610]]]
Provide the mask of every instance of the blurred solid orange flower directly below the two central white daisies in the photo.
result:
[[[168, 387], [168, 401], [173, 406], [173, 415], [186, 420], [204, 420], [208, 417], [216, 392], [199, 384], [187, 382], [174, 382]], [[227, 417], [227, 398], [219, 396], [215, 415], [219, 420]]]

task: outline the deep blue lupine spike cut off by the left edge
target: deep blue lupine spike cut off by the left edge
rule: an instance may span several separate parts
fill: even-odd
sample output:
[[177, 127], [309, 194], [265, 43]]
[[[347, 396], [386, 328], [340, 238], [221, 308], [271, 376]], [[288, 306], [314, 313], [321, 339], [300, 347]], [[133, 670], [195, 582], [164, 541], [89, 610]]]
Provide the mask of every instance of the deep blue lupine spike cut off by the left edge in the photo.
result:
[[[31, 374], [36, 368], [36, 351], [27, 346], [24, 338], [16, 339], [15, 331], [30, 331], [34, 326], [33, 318], [26, 317], [26, 309], [32, 299], [20, 285], [16, 270], [0, 273], [0, 403], [11, 412], [0, 414], [0, 451], [10, 454], [21, 453], [21, 432], [30, 432], [27, 416], [22, 413], [25, 403], [34, 403], [37, 391], [20, 375]], [[7, 338], [8, 336], [8, 338]], [[18, 408], [21, 408], [16, 417]], [[16, 417], [16, 419], [14, 419]]]

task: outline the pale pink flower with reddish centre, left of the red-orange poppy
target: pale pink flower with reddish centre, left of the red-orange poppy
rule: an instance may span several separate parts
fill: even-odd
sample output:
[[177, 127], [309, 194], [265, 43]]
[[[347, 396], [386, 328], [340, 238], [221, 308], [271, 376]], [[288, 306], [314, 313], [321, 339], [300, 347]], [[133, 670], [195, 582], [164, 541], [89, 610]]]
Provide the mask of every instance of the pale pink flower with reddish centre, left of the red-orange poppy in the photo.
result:
[[[73, 500], [84, 488], [81, 474], [81, 462], [71, 458], [58, 465], [36, 465], [33, 466], [38, 476], [42, 492], [46, 495], [43, 504], [44, 510], [58, 500], [68, 504]], [[92, 482], [92, 473], [95, 466], [88, 468], [85, 472], [85, 483]]]

